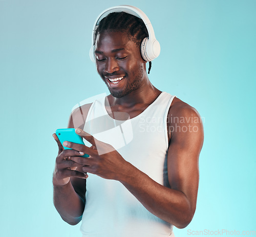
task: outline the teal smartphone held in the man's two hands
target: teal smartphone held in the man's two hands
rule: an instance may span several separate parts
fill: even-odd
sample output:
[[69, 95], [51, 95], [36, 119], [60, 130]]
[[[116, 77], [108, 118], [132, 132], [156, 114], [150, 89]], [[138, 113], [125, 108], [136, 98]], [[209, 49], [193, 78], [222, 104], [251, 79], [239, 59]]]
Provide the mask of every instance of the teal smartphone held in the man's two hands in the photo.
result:
[[[60, 129], [57, 129], [56, 130], [56, 135], [59, 138], [59, 141], [62, 144], [62, 146], [63, 146], [64, 141], [71, 141], [72, 143], [77, 143], [77, 144], [84, 145], [82, 137], [79, 136], [78, 134], [76, 134], [74, 128], [60, 128]], [[64, 146], [63, 146], [63, 148], [65, 150], [71, 149], [71, 148], [64, 147]], [[81, 157], [89, 157], [89, 155], [84, 154]]]

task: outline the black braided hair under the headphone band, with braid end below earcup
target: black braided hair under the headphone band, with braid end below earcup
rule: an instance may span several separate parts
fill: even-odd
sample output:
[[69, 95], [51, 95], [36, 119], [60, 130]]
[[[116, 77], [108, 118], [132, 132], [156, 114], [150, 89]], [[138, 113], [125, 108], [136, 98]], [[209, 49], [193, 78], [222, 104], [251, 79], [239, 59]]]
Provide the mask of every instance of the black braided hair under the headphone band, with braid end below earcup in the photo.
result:
[[[104, 17], [96, 29], [95, 40], [97, 35], [104, 31], [125, 32], [129, 39], [135, 42], [139, 47], [142, 40], [148, 37], [148, 32], [143, 20], [126, 12], [112, 12]], [[149, 63], [148, 74], [150, 74], [152, 66], [152, 62]]]

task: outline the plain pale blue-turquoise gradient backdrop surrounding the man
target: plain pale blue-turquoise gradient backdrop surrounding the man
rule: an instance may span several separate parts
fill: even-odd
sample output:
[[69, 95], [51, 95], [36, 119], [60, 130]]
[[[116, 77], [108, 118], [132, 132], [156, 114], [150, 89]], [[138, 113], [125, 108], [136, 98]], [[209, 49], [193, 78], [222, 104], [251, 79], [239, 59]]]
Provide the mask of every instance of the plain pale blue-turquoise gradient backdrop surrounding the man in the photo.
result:
[[108, 92], [90, 61], [97, 15], [141, 8], [161, 54], [150, 79], [204, 118], [200, 186], [188, 230], [255, 230], [256, 1], [0, 1], [1, 236], [81, 236], [52, 202], [71, 108]]

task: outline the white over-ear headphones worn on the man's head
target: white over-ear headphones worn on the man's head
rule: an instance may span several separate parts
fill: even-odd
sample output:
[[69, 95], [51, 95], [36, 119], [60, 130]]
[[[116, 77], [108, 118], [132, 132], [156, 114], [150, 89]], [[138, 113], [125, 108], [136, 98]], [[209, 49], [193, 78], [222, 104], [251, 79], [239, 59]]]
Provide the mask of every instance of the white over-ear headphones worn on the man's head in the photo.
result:
[[120, 6], [108, 8], [103, 12], [101, 12], [94, 23], [93, 34], [92, 34], [92, 47], [90, 49], [90, 58], [93, 62], [95, 62], [94, 42], [96, 39], [95, 33], [97, 30], [97, 27], [99, 26], [99, 22], [101, 21], [101, 19], [103, 19], [105, 16], [107, 16], [109, 13], [112, 13], [112, 12], [126, 12], [142, 19], [146, 26], [148, 37], [144, 38], [141, 42], [141, 45], [140, 45], [141, 56], [147, 62], [152, 61], [159, 56], [160, 44], [155, 37], [153, 27], [151, 25], [150, 20], [146, 16], [146, 14], [137, 7], [133, 7], [129, 5], [120, 5]]

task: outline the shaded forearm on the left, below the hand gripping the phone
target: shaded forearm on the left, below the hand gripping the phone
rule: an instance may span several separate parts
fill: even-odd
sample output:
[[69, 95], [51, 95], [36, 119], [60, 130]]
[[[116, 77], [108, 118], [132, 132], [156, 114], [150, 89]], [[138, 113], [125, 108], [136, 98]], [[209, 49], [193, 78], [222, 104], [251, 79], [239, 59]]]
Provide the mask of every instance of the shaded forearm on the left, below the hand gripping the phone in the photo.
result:
[[53, 202], [64, 221], [70, 225], [80, 222], [85, 203], [75, 192], [71, 182], [66, 185], [53, 185]]

